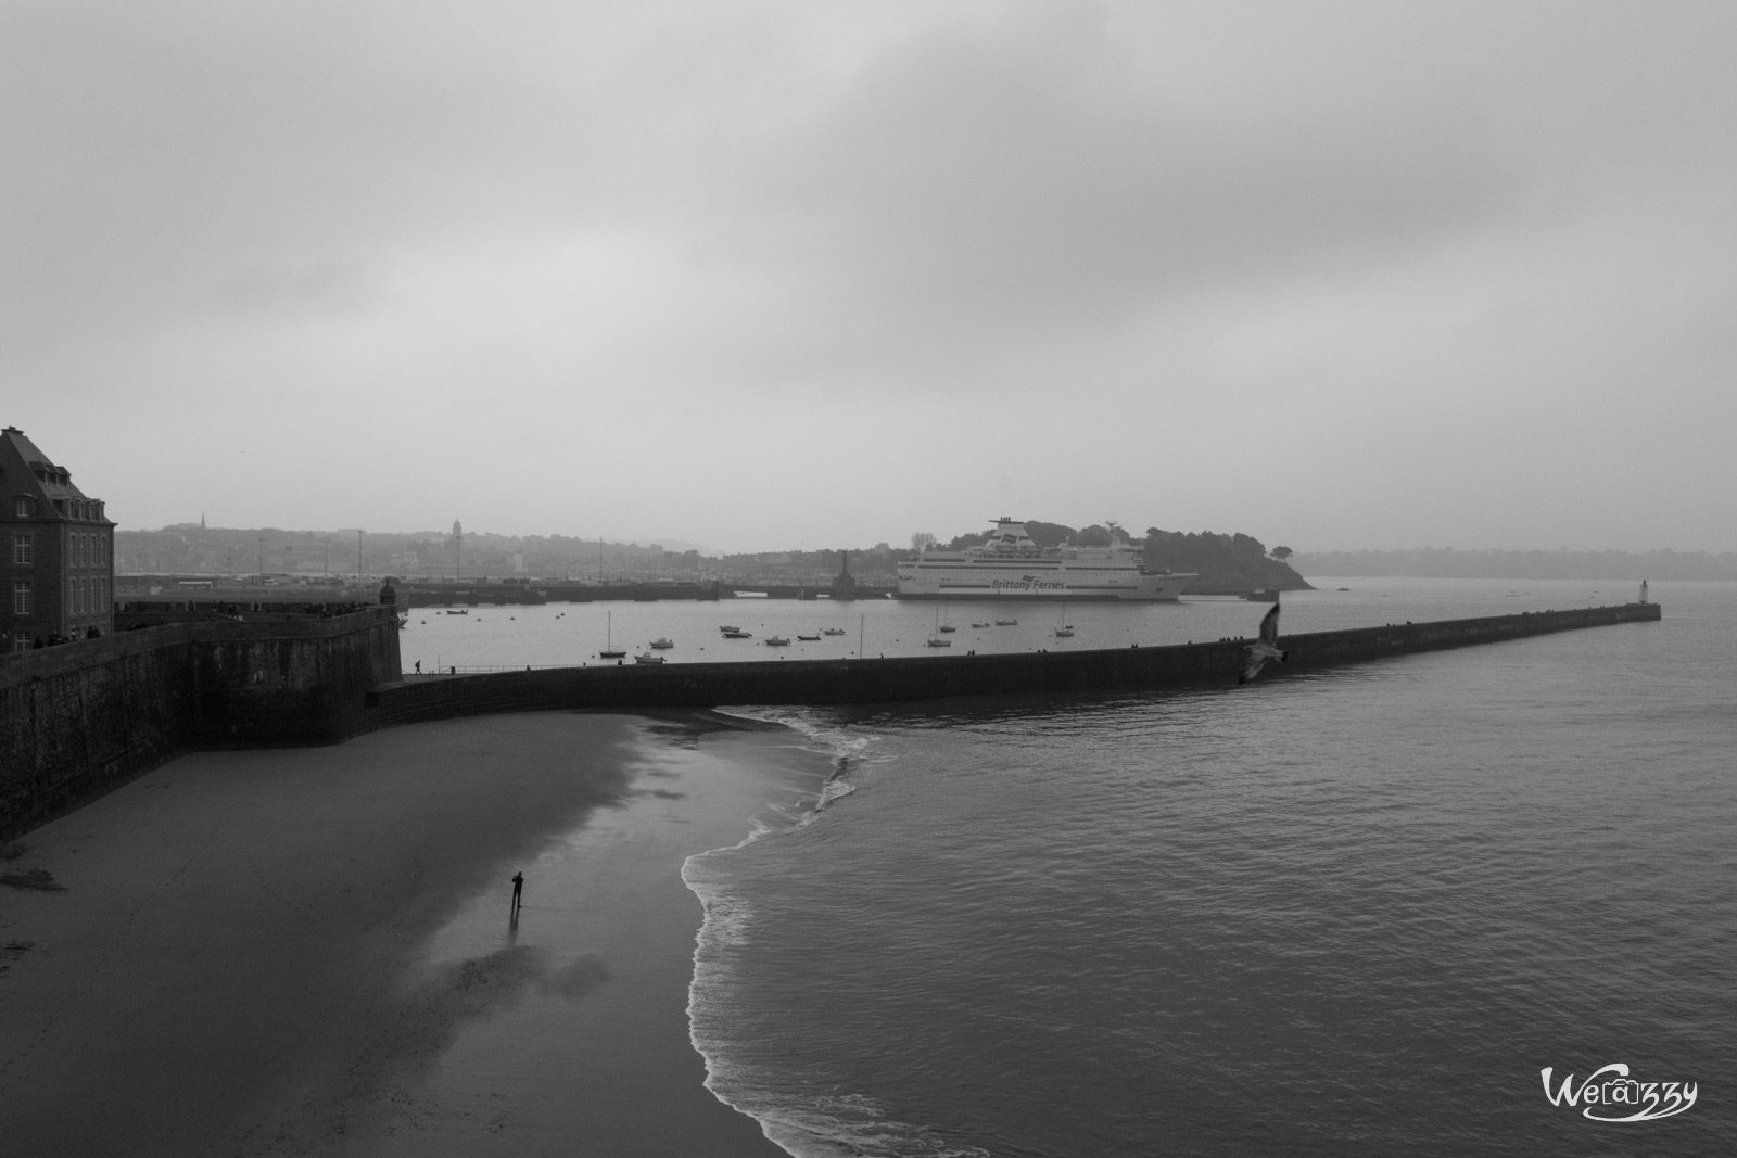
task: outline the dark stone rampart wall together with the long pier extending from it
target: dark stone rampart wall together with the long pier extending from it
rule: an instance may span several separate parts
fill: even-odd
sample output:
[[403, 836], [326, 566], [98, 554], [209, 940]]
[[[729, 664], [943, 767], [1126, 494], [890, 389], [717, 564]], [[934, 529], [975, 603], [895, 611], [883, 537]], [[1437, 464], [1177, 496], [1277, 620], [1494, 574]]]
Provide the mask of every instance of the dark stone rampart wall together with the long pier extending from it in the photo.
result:
[[[1261, 682], [1388, 656], [1659, 620], [1659, 604], [1285, 635]], [[495, 712], [646, 712], [1233, 688], [1240, 641], [950, 655], [542, 668], [406, 681], [396, 615], [182, 623], [0, 661], [0, 840], [200, 748], [337, 743]]]

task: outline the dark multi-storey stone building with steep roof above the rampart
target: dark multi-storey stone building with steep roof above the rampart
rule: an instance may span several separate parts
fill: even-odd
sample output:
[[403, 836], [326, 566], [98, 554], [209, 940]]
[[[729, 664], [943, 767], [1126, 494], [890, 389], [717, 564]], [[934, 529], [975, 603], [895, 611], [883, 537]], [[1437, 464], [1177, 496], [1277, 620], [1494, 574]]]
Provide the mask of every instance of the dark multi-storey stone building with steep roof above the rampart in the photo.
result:
[[0, 431], [0, 651], [115, 630], [115, 524], [17, 427]]

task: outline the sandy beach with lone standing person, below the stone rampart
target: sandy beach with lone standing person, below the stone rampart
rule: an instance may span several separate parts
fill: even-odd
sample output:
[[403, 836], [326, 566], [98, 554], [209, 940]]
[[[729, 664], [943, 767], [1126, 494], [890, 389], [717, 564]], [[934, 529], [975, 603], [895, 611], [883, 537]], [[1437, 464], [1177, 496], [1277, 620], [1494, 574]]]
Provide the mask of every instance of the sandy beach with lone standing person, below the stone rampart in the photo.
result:
[[[19, 1155], [778, 1156], [688, 1038], [686, 856], [823, 774], [763, 731], [502, 715], [208, 752], [0, 875]], [[514, 872], [523, 908], [511, 917]]]

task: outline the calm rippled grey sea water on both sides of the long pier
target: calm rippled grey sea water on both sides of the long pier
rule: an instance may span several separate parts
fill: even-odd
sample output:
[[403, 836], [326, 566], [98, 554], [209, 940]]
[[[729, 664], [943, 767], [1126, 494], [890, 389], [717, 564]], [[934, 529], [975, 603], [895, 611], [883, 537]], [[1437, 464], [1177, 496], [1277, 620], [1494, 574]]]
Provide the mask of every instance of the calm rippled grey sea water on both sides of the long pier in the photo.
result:
[[[1315, 582], [1285, 632], [1635, 594]], [[837, 774], [818, 811], [684, 868], [710, 1085], [802, 1158], [1737, 1153], [1737, 585], [1652, 594], [1662, 623], [1240, 689], [759, 712]], [[717, 658], [740, 609], [584, 608], [559, 646], [643, 627]], [[1126, 646], [1251, 635], [1261, 609], [1070, 618], [1075, 646]], [[756, 611], [900, 649], [935, 616]], [[483, 611], [507, 615], [528, 618]], [[969, 646], [1058, 646], [1037, 616]], [[427, 618], [406, 665], [420, 641], [570, 661]], [[1542, 1068], [1610, 1063], [1697, 1102], [1602, 1123], [1546, 1097]]]

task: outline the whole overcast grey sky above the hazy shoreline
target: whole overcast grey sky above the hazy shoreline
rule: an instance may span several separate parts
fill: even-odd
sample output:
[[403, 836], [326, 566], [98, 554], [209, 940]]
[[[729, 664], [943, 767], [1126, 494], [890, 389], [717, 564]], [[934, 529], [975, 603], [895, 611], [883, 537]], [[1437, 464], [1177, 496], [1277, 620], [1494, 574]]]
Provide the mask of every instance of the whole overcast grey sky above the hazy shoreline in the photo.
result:
[[122, 528], [1737, 549], [1737, 3], [0, 0]]

